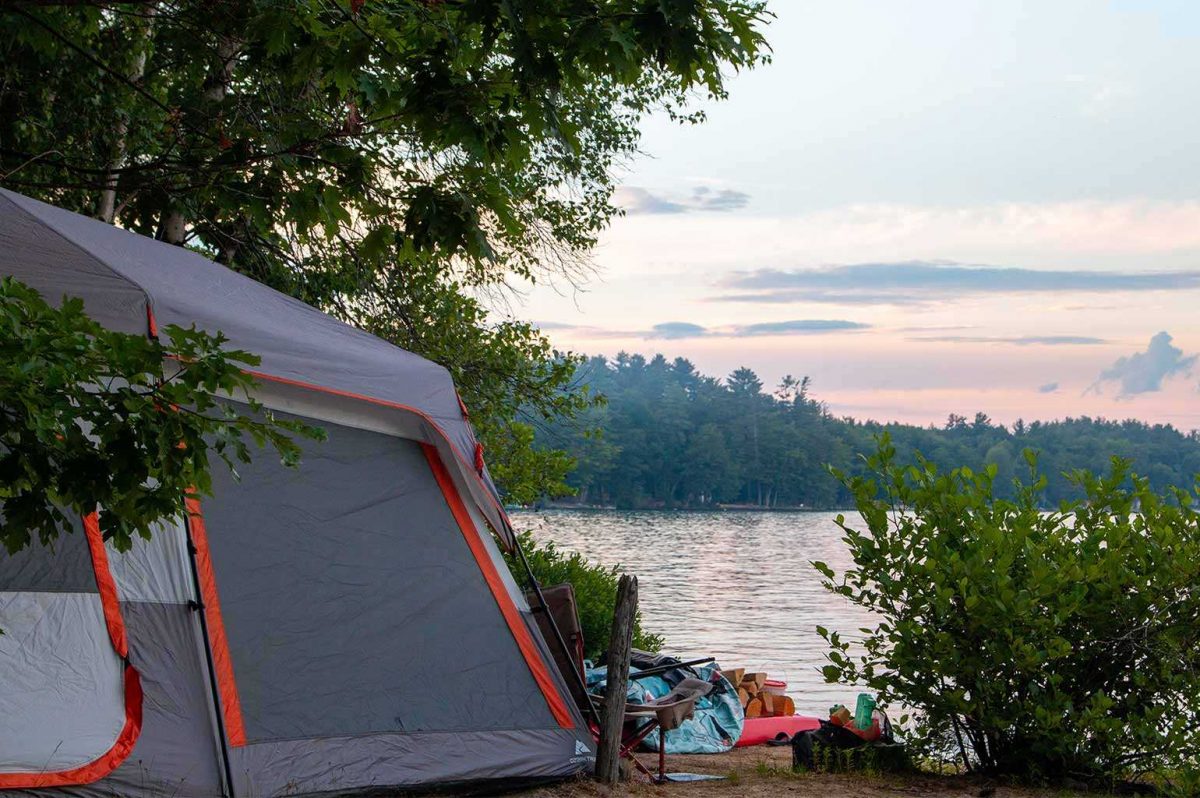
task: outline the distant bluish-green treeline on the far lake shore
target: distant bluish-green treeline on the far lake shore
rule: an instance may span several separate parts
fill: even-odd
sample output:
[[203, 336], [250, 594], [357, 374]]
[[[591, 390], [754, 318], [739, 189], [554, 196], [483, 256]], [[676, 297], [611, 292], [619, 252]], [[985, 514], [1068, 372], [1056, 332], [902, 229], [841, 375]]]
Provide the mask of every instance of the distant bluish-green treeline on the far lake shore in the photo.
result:
[[833, 416], [810, 396], [808, 378], [763, 390], [749, 368], [706, 377], [683, 359], [595, 356], [576, 374], [607, 398], [582, 418], [542, 426], [536, 443], [576, 458], [574, 499], [618, 508], [835, 508], [848, 496], [826, 470], [853, 472], [887, 430], [901, 457], [919, 450], [941, 468], [998, 467], [1000, 493], [1026, 475], [1021, 451], [1039, 452], [1048, 502], [1074, 498], [1064, 472], [1105, 470], [1133, 460], [1156, 490], [1188, 487], [1200, 474], [1200, 433], [1169, 425], [1078, 418], [994, 424], [983, 413], [952, 415], [943, 427]]

